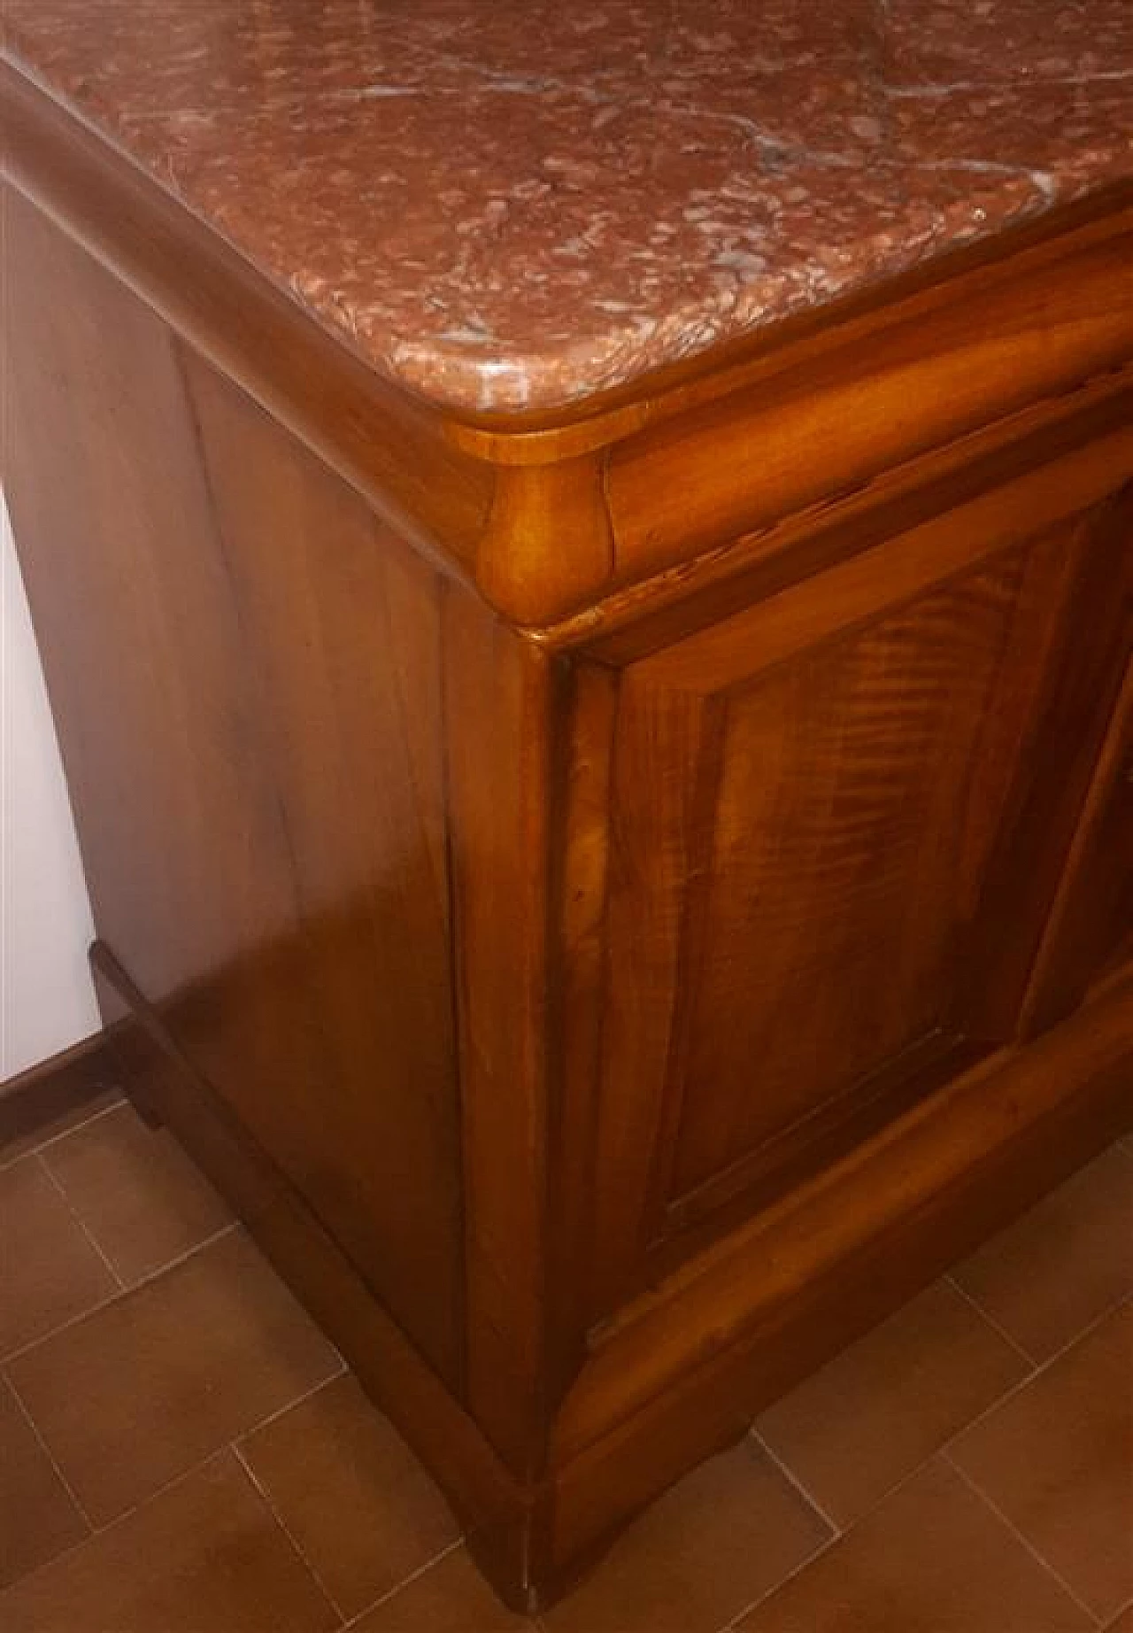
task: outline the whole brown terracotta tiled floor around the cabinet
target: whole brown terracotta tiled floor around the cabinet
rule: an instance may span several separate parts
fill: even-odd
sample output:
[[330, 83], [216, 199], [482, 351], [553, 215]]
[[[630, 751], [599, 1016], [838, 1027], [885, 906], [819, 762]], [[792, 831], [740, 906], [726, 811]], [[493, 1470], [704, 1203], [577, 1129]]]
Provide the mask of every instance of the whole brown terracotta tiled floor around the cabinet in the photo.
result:
[[[0, 1357], [5, 1633], [526, 1625], [124, 1104], [0, 1150]], [[764, 1413], [542, 1626], [1133, 1633], [1133, 1145]]]

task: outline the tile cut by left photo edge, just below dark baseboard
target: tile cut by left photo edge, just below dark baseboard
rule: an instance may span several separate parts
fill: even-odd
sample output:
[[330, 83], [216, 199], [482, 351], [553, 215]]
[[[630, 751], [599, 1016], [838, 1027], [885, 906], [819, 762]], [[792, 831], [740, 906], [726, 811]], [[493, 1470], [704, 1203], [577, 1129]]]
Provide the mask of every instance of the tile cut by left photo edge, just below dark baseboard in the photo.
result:
[[0, 1171], [0, 1357], [118, 1292], [38, 1156]]

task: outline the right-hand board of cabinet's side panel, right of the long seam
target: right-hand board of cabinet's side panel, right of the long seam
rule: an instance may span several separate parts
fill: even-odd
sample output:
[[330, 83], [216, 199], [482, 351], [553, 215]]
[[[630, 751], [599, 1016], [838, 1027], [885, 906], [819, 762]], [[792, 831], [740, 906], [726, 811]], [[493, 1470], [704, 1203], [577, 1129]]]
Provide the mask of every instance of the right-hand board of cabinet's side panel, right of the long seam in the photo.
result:
[[[460, 1155], [439, 585], [261, 410], [206, 366], [186, 359], [184, 369], [312, 994], [318, 1060], [295, 1088], [289, 1168], [315, 1169], [305, 1189], [358, 1262], [380, 1266], [377, 1285], [403, 1319], [438, 1300], [429, 1328], [407, 1326], [455, 1378]], [[318, 1078], [327, 1151], [312, 1161], [307, 1101]], [[255, 1112], [245, 1102], [248, 1120], [274, 1127], [281, 1083], [268, 1071], [256, 1081], [266, 1099]], [[255, 1092], [251, 1079], [243, 1092]]]

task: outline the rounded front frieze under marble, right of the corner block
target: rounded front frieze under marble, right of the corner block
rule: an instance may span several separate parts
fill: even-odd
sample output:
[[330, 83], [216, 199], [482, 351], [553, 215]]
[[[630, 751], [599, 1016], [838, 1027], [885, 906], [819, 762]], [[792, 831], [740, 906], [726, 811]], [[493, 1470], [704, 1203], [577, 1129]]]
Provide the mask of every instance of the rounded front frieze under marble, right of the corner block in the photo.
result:
[[988, 291], [978, 328], [963, 307], [937, 312], [929, 336], [918, 318], [898, 322], [849, 356], [771, 374], [741, 412], [726, 400], [637, 438], [611, 464], [622, 562], [656, 572], [1107, 369], [1115, 349], [1133, 351], [1131, 255], [1126, 229], [1084, 248], [1073, 284], [1056, 261], [1019, 266]]

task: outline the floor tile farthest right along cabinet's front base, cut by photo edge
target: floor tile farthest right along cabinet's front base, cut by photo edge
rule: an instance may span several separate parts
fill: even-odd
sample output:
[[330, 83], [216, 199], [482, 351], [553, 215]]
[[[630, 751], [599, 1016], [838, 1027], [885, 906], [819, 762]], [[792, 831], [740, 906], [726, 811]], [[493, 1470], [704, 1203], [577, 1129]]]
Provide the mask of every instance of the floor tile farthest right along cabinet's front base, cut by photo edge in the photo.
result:
[[1133, 1292], [1133, 1156], [1112, 1146], [953, 1275], [1046, 1360]]

